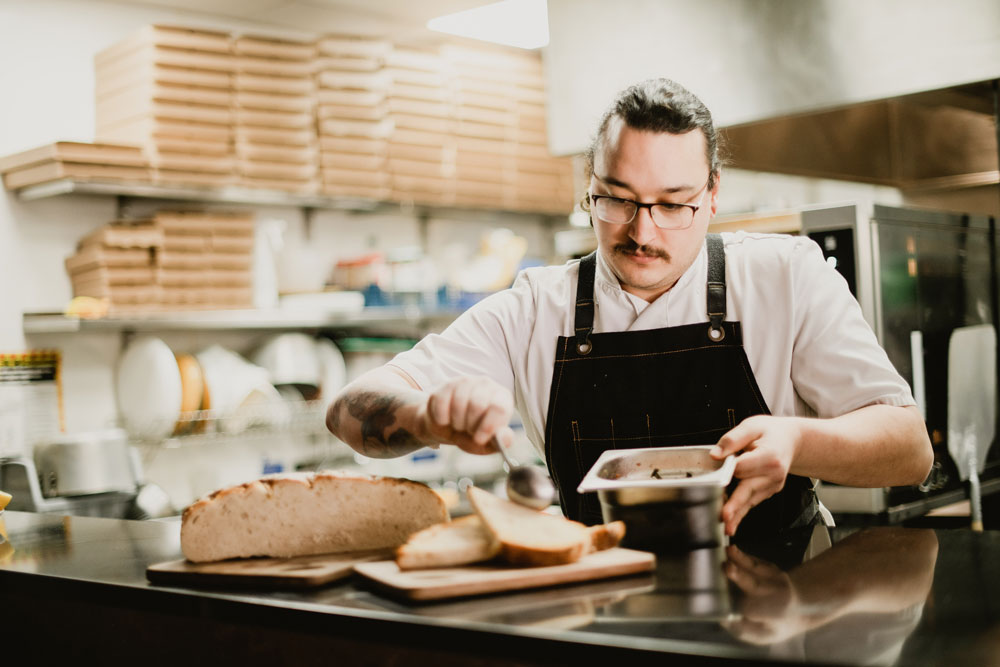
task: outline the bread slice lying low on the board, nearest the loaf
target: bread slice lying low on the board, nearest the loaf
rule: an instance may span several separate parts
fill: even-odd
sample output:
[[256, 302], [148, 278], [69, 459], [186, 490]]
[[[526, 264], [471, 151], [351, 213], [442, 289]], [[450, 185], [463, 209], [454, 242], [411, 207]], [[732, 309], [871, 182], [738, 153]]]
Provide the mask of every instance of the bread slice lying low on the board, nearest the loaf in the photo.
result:
[[396, 549], [400, 570], [450, 567], [489, 560], [500, 553], [497, 542], [475, 514], [414, 533]]

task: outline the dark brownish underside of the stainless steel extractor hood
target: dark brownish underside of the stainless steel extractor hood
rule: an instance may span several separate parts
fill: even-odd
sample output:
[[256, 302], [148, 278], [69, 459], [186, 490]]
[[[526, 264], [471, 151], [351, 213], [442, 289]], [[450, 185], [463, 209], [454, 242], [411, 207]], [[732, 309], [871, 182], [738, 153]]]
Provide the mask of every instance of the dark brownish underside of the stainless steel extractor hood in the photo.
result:
[[992, 81], [734, 125], [724, 134], [730, 166], [741, 169], [888, 185], [914, 196], [1000, 182]]

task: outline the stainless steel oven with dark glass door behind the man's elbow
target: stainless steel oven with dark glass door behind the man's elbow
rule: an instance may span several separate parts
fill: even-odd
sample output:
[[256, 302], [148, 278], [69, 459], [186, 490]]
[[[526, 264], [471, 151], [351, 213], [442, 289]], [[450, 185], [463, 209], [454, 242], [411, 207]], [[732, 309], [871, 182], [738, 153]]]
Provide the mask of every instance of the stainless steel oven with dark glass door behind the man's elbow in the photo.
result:
[[[981, 395], [991, 396], [989, 419], [995, 422], [997, 355], [983, 358], [981, 372], [957, 385], [958, 392], [951, 367], [967, 361], [953, 359], [949, 348], [956, 331], [961, 336], [968, 327], [990, 330], [990, 340], [996, 340], [995, 219], [855, 202], [807, 209], [801, 222], [802, 234], [816, 241], [844, 276], [890, 361], [913, 388], [934, 447], [934, 467], [919, 486], [859, 489], [824, 483], [820, 499], [836, 514], [877, 515], [879, 522], [902, 521], [960, 500], [965, 497], [960, 465], [949, 453], [958, 425], [949, 422], [963, 396]], [[994, 426], [974, 430], [983, 440], [974, 445], [983, 494], [1000, 491]]]

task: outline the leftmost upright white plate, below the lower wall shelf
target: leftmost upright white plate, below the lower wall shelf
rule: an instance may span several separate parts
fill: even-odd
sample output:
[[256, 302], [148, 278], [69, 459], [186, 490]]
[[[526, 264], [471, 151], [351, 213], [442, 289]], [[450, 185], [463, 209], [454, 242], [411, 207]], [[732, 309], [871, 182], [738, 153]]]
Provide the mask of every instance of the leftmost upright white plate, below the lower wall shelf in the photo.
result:
[[115, 379], [118, 412], [130, 434], [160, 440], [173, 432], [181, 412], [181, 372], [166, 343], [153, 336], [134, 339]]

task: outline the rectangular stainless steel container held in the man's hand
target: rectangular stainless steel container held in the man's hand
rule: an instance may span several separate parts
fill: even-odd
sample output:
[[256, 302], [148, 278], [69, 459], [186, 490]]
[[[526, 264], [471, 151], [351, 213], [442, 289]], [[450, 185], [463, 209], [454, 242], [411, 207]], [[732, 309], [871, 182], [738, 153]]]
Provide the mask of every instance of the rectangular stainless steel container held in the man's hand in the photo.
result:
[[627, 547], [669, 552], [725, 543], [723, 493], [736, 459], [711, 446], [616, 449], [601, 454], [578, 493], [597, 492], [605, 522], [624, 521]]

